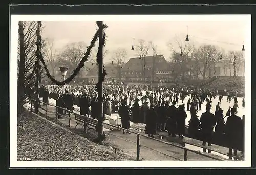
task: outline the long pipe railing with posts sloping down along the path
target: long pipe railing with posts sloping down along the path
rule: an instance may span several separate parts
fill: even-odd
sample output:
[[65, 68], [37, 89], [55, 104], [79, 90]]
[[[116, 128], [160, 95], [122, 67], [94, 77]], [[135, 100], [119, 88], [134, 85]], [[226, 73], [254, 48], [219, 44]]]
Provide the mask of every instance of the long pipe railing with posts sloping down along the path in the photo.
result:
[[[36, 101], [36, 100], [32, 100], [32, 101]], [[32, 102], [31, 102], [31, 103], [32, 103]], [[44, 102], [42, 102], [42, 101], [40, 101], [40, 103], [46, 105], [45, 108], [42, 108], [42, 107], [40, 107], [40, 105], [39, 105], [39, 107], [40, 107], [42, 110], [45, 110], [45, 115], [47, 115], [47, 111], [48, 111], [48, 110], [47, 110], [47, 106], [55, 107], [55, 108], [56, 108], [56, 112], [55, 112], [55, 113], [56, 113], [56, 119], [58, 119], [58, 115], [59, 115], [59, 114], [58, 114], [58, 109], [67, 111], [68, 114], [69, 114], [69, 117], [68, 117], [68, 119], [69, 119], [69, 127], [71, 126], [71, 120], [72, 120], [70, 114], [79, 115], [79, 116], [81, 116], [81, 117], [84, 118], [84, 121], [86, 121], [86, 119], [90, 119], [90, 120], [97, 121], [96, 119], [92, 119], [92, 118], [89, 118], [89, 117], [87, 117], [87, 116], [83, 116], [83, 115], [77, 114], [77, 113], [75, 113], [75, 112], [72, 112], [72, 111], [70, 111], [70, 110], [67, 110], [67, 108], [55, 106], [55, 105], [52, 105], [52, 104], [47, 104], [47, 103], [44, 103]], [[32, 110], [32, 108], [31, 108], [31, 110]], [[84, 122], [84, 123], [85, 123], [85, 122]], [[142, 135], [142, 134], [140, 134], [140, 133], [138, 133], [138, 132], [134, 132], [133, 130], [124, 129], [124, 128], [122, 128], [122, 127], [119, 127], [119, 126], [116, 126], [116, 125], [112, 125], [112, 124], [109, 124], [109, 123], [104, 123], [104, 122], [103, 122], [102, 130], [103, 130], [104, 125], [112, 126], [112, 127], [114, 127], [114, 128], [118, 128], [118, 129], [121, 129], [121, 130], [125, 130], [126, 132], [130, 132], [130, 133], [133, 133], [133, 134], [136, 134], [136, 135], [137, 135], [137, 143], [136, 143], [136, 144], [137, 144], [137, 147], [136, 147], [136, 148], [137, 148], [137, 151], [136, 151], [136, 152], [137, 152], [137, 155], [136, 155], [137, 160], [139, 160], [139, 156], [140, 156], [140, 146], [141, 146], [141, 145], [140, 145], [140, 137], [141, 137], [141, 136], [142, 136], [142, 137], [145, 137], [145, 138], [148, 138], [148, 139], [152, 139], [152, 140], [158, 141], [158, 142], [160, 142], [160, 143], [164, 143], [164, 144], [167, 144], [167, 145], [170, 145], [170, 146], [174, 146], [174, 147], [183, 149], [183, 150], [184, 150], [184, 161], [187, 160], [187, 151], [194, 152], [195, 154], [198, 154], [198, 155], [201, 155], [201, 156], [204, 156], [204, 157], [207, 157], [207, 158], [211, 158], [211, 159], [214, 159], [214, 160], [221, 160], [221, 161], [227, 160], [227, 159], [224, 159], [224, 158], [220, 158], [220, 157], [216, 157], [216, 156], [213, 156], [213, 155], [206, 154], [206, 153], [204, 153], [204, 152], [200, 152], [200, 151], [197, 151], [197, 150], [189, 149], [189, 148], [186, 148], [186, 147], [183, 147], [183, 146], [180, 146], [180, 145], [176, 145], [176, 144], [173, 144], [173, 143], [165, 142], [165, 141], [162, 141], [162, 140], [159, 140], [159, 139], [156, 139], [156, 138], [148, 137], [148, 136]], [[84, 128], [84, 131], [85, 131], [85, 128]], [[169, 156], [169, 155], [168, 155], [168, 156]], [[170, 157], [172, 157], [172, 156], [170, 156]], [[177, 159], [177, 158], [176, 158], [176, 159]]]

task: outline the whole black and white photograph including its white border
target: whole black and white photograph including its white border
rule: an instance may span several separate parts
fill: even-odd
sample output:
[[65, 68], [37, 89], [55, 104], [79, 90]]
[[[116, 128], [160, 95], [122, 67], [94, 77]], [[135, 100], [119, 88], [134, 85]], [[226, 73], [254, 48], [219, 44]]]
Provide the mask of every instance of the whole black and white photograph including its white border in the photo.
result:
[[251, 166], [250, 15], [10, 21], [10, 166]]

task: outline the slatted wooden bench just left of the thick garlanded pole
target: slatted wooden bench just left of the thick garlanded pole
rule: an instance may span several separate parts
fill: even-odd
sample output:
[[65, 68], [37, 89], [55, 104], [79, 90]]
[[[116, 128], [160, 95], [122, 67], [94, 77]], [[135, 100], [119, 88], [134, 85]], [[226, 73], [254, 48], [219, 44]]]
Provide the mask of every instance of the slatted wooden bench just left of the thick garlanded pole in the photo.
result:
[[[98, 124], [98, 120], [92, 119], [92, 118], [89, 118], [89, 117], [86, 117], [86, 116], [82, 116], [82, 115], [76, 114], [76, 113], [74, 113], [74, 115], [75, 115], [75, 120], [76, 120], [75, 128], [78, 125], [81, 125], [85, 128], [84, 130], [86, 130], [86, 133], [90, 129], [96, 130], [96, 125]], [[84, 120], [86, 120], [86, 122], [84, 122]], [[84, 123], [86, 124], [85, 126], [84, 126]]]

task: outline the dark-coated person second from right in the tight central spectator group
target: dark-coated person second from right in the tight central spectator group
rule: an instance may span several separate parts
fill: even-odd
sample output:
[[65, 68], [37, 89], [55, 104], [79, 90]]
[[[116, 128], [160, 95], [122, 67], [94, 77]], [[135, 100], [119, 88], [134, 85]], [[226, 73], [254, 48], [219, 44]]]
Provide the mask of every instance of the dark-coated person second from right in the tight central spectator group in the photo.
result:
[[175, 107], [176, 101], [173, 101], [173, 104], [168, 107], [167, 110], [167, 130], [168, 135], [172, 135], [176, 137], [176, 129], [177, 129], [177, 108]]

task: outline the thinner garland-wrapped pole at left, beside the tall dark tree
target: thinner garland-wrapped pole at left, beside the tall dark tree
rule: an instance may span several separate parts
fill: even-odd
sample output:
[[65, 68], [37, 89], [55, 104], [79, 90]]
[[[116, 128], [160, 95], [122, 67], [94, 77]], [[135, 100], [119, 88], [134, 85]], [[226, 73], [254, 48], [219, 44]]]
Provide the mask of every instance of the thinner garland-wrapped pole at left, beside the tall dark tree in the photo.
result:
[[37, 34], [37, 55], [36, 55], [36, 62], [35, 62], [35, 66], [36, 66], [36, 82], [35, 82], [35, 95], [36, 95], [36, 105], [35, 105], [35, 113], [38, 114], [38, 107], [39, 107], [39, 69], [40, 69], [40, 65], [39, 65], [39, 52], [41, 52], [41, 36], [40, 36], [40, 27], [41, 27], [41, 21], [37, 21], [37, 30], [36, 30], [36, 34]]

